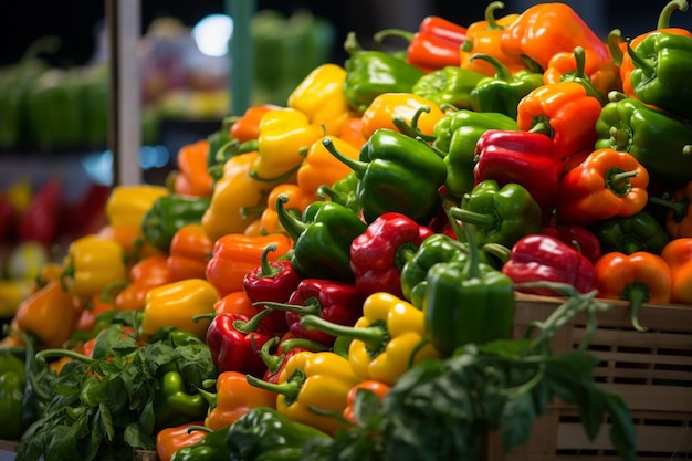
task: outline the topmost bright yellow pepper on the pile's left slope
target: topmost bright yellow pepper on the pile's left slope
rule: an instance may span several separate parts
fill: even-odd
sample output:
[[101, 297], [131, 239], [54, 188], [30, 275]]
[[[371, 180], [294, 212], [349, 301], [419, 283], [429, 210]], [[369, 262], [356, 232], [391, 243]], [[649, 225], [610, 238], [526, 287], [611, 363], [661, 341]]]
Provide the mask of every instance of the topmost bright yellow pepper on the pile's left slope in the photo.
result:
[[324, 126], [327, 135], [336, 135], [350, 115], [345, 81], [346, 70], [340, 65], [319, 65], [293, 90], [287, 105], [306, 114], [313, 125]]

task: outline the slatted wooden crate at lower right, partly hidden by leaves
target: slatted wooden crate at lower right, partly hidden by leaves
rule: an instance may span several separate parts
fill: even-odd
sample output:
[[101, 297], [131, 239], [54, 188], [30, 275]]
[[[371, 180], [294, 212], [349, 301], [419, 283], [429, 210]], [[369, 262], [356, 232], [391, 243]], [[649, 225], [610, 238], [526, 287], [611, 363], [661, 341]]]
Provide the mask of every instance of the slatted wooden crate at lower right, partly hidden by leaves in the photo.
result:
[[[518, 295], [514, 334], [521, 335], [533, 321], [545, 319], [559, 298]], [[620, 394], [637, 428], [637, 460], [692, 460], [692, 306], [644, 304], [641, 324], [631, 327], [629, 305], [609, 302], [599, 313], [598, 328], [589, 352], [600, 359], [595, 377], [604, 389]], [[555, 352], [566, 352], [583, 342], [585, 317], [565, 326], [553, 340]], [[502, 454], [491, 439], [489, 461], [615, 461], [605, 421], [594, 441], [588, 440], [576, 408], [560, 401], [551, 405], [532, 429], [527, 443]]]

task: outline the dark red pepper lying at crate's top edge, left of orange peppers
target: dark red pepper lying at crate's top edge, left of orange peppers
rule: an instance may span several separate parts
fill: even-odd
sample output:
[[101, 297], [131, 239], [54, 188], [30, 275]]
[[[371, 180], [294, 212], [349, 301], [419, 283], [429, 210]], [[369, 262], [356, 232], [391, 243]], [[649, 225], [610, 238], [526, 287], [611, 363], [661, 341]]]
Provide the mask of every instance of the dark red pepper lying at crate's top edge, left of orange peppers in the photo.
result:
[[[559, 282], [587, 293], [594, 287], [594, 264], [574, 247], [551, 235], [530, 234], [513, 247], [502, 272], [514, 283]], [[555, 295], [549, 289], [517, 286], [516, 291]]]

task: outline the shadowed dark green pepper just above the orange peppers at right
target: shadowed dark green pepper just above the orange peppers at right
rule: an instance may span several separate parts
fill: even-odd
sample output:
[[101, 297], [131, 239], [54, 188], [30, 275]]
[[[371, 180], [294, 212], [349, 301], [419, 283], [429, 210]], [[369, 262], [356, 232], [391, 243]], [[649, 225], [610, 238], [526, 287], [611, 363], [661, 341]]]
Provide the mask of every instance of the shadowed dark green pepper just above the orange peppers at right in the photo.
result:
[[617, 251], [632, 254], [646, 251], [661, 254], [670, 235], [652, 214], [640, 211], [628, 217], [609, 218], [594, 226], [594, 233], [604, 253]]

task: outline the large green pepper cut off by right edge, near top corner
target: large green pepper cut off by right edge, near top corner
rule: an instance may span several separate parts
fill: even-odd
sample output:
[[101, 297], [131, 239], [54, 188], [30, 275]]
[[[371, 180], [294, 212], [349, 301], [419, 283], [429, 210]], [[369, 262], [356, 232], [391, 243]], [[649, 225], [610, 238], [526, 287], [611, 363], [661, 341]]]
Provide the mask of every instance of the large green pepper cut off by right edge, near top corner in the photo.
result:
[[692, 38], [673, 33], [649, 34], [628, 46], [635, 96], [644, 104], [692, 118]]

